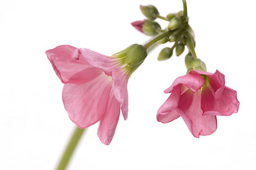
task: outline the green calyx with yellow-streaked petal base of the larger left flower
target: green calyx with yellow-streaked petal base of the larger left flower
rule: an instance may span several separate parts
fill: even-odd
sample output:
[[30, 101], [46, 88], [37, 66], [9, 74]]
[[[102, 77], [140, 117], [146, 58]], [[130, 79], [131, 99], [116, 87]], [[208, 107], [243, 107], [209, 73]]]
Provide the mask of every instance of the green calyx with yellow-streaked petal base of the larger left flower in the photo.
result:
[[114, 54], [113, 57], [118, 59], [119, 64], [124, 66], [125, 71], [130, 76], [143, 63], [147, 55], [148, 52], [143, 45], [133, 44]]

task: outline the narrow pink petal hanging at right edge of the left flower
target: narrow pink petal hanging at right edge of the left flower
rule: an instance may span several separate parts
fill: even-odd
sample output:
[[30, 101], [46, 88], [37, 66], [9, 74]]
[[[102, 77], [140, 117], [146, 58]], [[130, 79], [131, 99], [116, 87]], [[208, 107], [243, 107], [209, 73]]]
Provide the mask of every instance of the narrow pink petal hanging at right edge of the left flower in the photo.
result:
[[127, 91], [127, 83], [128, 77], [126, 72], [121, 72], [121, 69], [115, 69], [112, 72], [113, 78], [113, 94], [121, 103], [121, 110], [123, 113], [124, 120], [128, 117], [128, 91]]

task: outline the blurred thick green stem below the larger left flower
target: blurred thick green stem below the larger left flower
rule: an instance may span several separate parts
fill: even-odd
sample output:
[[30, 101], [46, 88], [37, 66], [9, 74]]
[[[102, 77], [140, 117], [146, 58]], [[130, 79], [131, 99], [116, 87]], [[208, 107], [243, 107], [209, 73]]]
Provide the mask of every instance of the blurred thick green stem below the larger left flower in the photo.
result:
[[67, 164], [69, 163], [69, 159], [71, 158], [74, 149], [77, 147], [77, 144], [84, 133], [84, 129], [76, 128], [73, 132], [72, 137], [69, 140], [69, 143], [65, 149], [65, 152], [60, 159], [60, 163], [57, 166], [57, 170], [65, 170]]

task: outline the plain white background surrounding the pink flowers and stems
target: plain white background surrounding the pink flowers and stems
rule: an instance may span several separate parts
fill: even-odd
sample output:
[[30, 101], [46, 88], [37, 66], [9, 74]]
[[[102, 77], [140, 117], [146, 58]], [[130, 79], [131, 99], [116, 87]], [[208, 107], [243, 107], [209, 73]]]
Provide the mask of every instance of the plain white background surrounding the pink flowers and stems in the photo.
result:
[[[63, 84], [45, 51], [69, 44], [112, 55], [143, 44], [149, 37], [130, 26], [144, 19], [140, 4], [157, 6], [162, 16], [182, 10], [182, 0], [1, 0], [0, 169], [55, 169], [72, 135]], [[182, 118], [158, 123], [157, 109], [169, 96], [163, 91], [186, 73], [185, 53], [157, 61], [162, 45], [130, 78], [128, 119], [120, 118], [111, 145], [100, 142], [98, 123], [92, 125], [68, 169], [256, 168], [255, 1], [188, 0], [187, 5], [196, 53], [208, 72], [218, 69], [226, 86], [238, 91], [238, 113], [218, 117], [216, 132], [199, 139]]]

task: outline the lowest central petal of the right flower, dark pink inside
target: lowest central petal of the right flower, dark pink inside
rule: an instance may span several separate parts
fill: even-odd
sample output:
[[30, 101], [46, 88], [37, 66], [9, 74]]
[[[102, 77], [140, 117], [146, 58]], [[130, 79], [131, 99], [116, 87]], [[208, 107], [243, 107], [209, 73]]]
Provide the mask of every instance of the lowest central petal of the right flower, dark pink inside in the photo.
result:
[[192, 94], [191, 91], [185, 92], [179, 100], [179, 108], [184, 111], [181, 116], [194, 137], [211, 135], [216, 131], [216, 116], [203, 115], [201, 110], [201, 91], [196, 94]]

